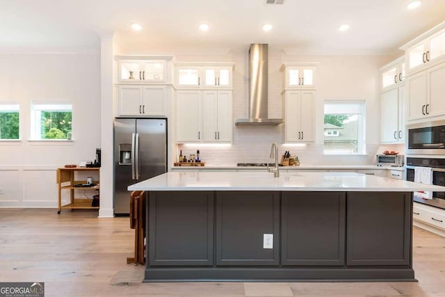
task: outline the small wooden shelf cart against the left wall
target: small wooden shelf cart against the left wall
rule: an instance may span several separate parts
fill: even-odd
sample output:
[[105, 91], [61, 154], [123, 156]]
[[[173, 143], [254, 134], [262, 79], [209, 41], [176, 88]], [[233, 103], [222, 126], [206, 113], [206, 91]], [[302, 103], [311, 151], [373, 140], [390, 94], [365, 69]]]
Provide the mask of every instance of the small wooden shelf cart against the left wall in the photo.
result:
[[[95, 186], [90, 187], [79, 187], [74, 186], [76, 184], [86, 184], [86, 180], [75, 180], [75, 172], [97, 172], [97, 180], [93, 180]], [[74, 190], [98, 190], [100, 180], [100, 168], [86, 168], [86, 167], [75, 167], [75, 168], [58, 168], [57, 169], [57, 185], [58, 185], [58, 211], [60, 214], [62, 209], [99, 209], [99, 207], [93, 207], [92, 199], [81, 199], [74, 198]], [[70, 190], [70, 203], [62, 205], [62, 190]]]

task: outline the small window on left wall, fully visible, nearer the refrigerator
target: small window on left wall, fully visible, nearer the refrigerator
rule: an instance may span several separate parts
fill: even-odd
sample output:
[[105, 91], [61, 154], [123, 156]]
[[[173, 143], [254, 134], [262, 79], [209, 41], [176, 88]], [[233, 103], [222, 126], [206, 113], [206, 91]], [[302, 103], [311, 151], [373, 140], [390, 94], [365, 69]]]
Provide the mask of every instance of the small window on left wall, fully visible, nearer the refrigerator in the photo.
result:
[[31, 139], [71, 139], [71, 102], [33, 101], [31, 104]]

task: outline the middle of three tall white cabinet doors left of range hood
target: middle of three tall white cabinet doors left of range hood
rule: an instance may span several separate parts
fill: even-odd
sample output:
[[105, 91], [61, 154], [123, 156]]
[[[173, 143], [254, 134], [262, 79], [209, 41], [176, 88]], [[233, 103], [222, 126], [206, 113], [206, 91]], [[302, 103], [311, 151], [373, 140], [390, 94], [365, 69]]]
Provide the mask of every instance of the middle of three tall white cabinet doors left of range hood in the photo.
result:
[[203, 91], [202, 134], [204, 141], [218, 141], [218, 91]]

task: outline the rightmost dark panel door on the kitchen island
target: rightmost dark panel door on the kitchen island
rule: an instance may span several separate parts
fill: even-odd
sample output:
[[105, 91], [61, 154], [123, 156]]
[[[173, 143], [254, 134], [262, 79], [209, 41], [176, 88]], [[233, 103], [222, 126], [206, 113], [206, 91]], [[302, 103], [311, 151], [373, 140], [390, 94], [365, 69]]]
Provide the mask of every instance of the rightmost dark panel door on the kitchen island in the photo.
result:
[[411, 193], [348, 192], [346, 264], [410, 265]]

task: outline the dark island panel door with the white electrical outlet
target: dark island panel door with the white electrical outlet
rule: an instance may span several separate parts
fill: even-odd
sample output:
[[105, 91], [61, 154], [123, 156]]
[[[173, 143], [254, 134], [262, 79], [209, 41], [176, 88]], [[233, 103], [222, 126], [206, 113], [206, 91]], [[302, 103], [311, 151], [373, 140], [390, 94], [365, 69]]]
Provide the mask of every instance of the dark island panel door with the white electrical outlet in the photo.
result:
[[[271, 248], [264, 234], [272, 234]], [[276, 266], [280, 255], [280, 193], [216, 193], [216, 264]]]

